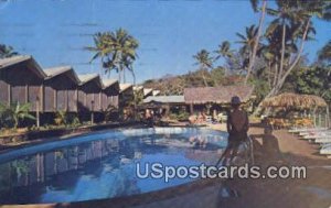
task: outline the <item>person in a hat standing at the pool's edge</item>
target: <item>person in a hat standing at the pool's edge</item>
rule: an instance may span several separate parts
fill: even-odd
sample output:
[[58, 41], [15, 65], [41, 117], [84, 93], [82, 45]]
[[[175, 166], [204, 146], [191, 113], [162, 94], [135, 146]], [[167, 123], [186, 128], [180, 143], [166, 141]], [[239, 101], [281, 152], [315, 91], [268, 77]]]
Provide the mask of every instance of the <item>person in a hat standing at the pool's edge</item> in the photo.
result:
[[[236, 156], [238, 147], [242, 142], [247, 140], [248, 132], [248, 116], [245, 110], [241, 108], [242, 101], [237, 96], [232, 97], [231, 107], [232, 110], [227, 116], [227, 132], [228, 132], [228, 145], [224, 152], [225, 158], [229, 157], [229, 162]], [[229, 154], [229, 156], [227, 156]]]

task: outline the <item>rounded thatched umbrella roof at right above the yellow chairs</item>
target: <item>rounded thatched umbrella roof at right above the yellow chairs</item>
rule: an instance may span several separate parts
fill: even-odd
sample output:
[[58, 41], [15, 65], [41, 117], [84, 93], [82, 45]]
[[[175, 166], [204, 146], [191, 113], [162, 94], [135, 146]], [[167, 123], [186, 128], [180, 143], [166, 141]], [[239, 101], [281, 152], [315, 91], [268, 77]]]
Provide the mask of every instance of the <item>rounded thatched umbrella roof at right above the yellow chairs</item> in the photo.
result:
[[263, 107], [282, 107], [282, 108], [314, 108], [327, 107], [323, 98], [314, 95], [299, 95], [285, 92], [266, 99]]

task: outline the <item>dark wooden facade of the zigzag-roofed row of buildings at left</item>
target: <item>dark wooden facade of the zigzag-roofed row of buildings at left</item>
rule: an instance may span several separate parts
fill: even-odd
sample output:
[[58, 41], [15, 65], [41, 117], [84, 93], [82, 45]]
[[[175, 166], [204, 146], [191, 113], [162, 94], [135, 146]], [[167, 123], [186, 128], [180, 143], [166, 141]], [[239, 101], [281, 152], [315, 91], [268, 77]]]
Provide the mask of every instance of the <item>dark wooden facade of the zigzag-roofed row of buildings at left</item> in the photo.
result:
[[[77, 86], [66, 74], [44, 80], [33, 73], [32, 67], [34, 66], [26, 61], [0, 70], [1, 103], [30, 102], [31, 111], [36, 111], [39, 106], [41, 112], [90, 111], [92, 101], [94, 101], [94, 111], [104, 111], [109, 105], [116, 108], [119, 106], [118, 84], [105, 90], [95, 80]], [[128, 90], [125, 95], [131, 92]], [[124, 97], [127, 98], [125, 95]]]

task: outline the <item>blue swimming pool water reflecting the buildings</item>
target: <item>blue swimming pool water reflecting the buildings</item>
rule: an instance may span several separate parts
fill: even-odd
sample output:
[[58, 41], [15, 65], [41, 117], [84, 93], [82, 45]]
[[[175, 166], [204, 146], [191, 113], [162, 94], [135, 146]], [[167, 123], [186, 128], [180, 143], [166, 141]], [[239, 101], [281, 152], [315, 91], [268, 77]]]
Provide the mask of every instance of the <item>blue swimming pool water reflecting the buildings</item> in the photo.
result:
[[[202, 138], [205, 146], [192, 146]], [[215, 164], [226, 133], [195, 128], [109, 130], [0, 155], [0, 204], [115, 198], [192, 182], [138, 178], [136, 164]], [[142, 168], [143, 171], [143, 168]]]

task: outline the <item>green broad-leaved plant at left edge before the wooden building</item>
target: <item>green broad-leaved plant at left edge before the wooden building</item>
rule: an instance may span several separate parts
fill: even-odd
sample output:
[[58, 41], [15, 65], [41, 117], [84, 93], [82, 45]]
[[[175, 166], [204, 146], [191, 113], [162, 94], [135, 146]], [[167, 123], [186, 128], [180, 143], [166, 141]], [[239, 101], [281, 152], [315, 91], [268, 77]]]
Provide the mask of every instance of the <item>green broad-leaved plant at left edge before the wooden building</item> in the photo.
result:
[[20, 105], [20, 102], [11, 103], [10, 106], [0, 103], [0, 123], [6, 128], [19, 127], [19, 122], [24, 119], [35, 120], [35, 118], [30, 113], [31, 103], [26, 102]]

